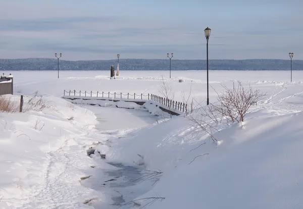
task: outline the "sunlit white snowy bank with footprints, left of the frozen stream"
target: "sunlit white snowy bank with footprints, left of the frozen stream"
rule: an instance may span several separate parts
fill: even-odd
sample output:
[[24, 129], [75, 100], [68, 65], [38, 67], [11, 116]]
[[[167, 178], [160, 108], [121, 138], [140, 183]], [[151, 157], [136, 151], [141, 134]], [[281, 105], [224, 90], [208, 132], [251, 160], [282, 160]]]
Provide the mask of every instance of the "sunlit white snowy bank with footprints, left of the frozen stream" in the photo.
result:
[[102, 194], [79, 183], [91, 159], [87, 141], [77, 138], [94, 128], [95, 116], [64, 99], [43, 98], [52, 101], [51, 109], [0, 113], [0, 207], [91, 208], [83, 202]]

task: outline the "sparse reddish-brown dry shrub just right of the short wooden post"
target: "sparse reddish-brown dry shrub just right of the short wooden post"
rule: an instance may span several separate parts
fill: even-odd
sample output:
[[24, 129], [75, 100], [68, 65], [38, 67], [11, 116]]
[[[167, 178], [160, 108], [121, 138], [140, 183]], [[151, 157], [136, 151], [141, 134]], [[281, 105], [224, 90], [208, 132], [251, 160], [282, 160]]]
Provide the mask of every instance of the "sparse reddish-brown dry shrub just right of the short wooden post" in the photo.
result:
[[47, 101], [46, 99], [43, 98], [42, 95], [38, 95], [38, 91], [36, 91], [31, 97], [27, 103], [26, 107], [24, 108], [23, 112], [26, 111], [42, 111], [44, 109], [51, 109], [53, 111], [56, 111], [56, 107], [52, 105], [52, 101]]

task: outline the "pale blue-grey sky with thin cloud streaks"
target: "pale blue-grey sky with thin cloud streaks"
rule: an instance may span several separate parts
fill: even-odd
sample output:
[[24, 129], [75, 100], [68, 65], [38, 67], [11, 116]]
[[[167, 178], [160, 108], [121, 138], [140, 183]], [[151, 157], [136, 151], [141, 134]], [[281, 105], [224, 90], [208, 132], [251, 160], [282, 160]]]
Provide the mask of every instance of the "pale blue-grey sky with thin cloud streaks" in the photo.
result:
[[0, 59], [303, 60], [302, 0], [0, 0]]

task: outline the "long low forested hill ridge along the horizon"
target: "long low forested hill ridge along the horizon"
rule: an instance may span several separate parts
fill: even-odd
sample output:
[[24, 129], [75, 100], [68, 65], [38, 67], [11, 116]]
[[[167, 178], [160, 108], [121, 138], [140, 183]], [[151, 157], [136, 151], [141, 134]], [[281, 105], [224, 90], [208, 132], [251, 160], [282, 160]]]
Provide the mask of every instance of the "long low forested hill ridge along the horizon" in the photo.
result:
[[[110, 70], [117, 60], [65, 61], [60, 60], [60, 70]], [[57, 70], [57, 59], [0, 59], [0, 71]], [[293, 70], [303, 70], [303, 60], [293, 60]], [[120, 59], [121, 70], [169, 70], [169, 59]], [[172, 70], [205, 70], [206, 60], [174, 60]], [[289, 70], [290, 60], [210, 60], [210, 70]]]

